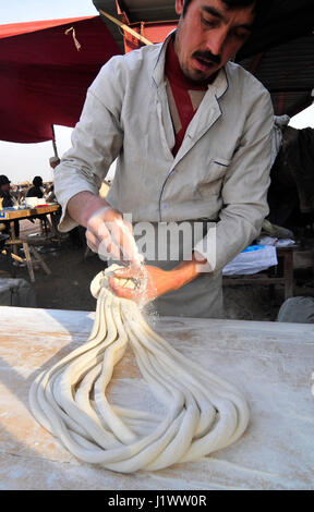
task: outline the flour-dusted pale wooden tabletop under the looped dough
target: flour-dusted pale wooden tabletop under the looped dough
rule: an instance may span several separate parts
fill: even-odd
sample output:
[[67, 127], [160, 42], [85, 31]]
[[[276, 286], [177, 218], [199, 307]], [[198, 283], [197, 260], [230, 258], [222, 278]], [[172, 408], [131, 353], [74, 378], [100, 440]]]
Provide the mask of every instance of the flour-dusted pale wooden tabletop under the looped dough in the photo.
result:
[[[155, 319], [176, 349], [244, 392], [251, 420], [239, 441], [200, 462], [121, 475], [77, 461], [28, 409], [35, 376], [86, 341], [94, 314], [2, 306], [0, 315], [2, 489], [314, 488], [313, 325]], [[152, 403], [131, 351], [113, 377], [116, 403]]]

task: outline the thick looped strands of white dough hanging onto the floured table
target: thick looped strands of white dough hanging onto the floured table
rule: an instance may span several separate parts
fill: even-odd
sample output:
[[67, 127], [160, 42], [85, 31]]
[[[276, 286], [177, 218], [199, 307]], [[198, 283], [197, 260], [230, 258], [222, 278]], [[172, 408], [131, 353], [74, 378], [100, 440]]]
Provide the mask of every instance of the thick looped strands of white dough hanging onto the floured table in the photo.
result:
[[[138, 306], [119, 298], [99, 272], [88, 341], [37, 376], [29, 390], [33, 415], [77, 459], [107, 470], [156, 471], [191, 462], [237, 441], [249, 423], [243, 394], [227, 380], [184, 357], [144, 319]], [[123, 280], [132, 287], [132, 280]], [[167, 412], [110, 404], [114, 366], [131, 344], [146, 383]]]

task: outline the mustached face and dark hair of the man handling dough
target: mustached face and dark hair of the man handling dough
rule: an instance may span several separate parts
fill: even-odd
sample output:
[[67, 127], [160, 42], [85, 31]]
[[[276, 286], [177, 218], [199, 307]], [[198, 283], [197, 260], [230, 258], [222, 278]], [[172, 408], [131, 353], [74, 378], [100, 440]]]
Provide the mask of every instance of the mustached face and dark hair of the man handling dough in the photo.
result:
[[251, 34], [254, 4], [234, 10], [222, 0], [176, 0], [179, 20], [174, 49], [184, 75], [204, 82], [233, 58]]

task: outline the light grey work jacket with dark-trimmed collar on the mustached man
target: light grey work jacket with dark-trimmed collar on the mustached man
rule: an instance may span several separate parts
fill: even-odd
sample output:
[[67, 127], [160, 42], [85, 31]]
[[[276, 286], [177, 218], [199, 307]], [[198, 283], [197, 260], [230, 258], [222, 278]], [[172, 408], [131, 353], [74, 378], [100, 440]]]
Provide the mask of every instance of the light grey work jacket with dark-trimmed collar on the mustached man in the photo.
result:
[[164, 74], [166, 46], [113, 57], [88, 89], [72, 148], [55, 170], [63, 215], [60, 231], [76, 223], [67, 214], [78, 192], [98, 194], [118, 157], [110, 205], [133, 221], [218, 220], [216, 272], [258, 234], [268, 214], [274, 112], [268, 92], [228, 62], [208, 85], [176, 157]]

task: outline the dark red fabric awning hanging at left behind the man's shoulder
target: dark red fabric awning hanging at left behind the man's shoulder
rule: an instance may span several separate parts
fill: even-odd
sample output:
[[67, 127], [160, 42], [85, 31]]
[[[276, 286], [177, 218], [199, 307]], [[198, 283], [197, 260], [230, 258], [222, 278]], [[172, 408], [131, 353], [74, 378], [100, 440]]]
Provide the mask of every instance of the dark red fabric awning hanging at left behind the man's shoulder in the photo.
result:
[[0, 139], [44, 142], [53, 124], [74, 126], [88, 86], [118, 53], [100, 16], [0, 26]]

